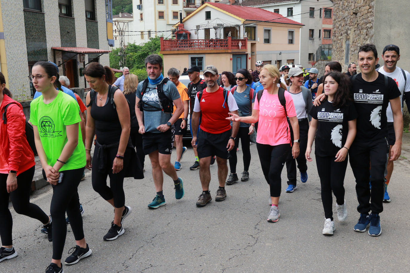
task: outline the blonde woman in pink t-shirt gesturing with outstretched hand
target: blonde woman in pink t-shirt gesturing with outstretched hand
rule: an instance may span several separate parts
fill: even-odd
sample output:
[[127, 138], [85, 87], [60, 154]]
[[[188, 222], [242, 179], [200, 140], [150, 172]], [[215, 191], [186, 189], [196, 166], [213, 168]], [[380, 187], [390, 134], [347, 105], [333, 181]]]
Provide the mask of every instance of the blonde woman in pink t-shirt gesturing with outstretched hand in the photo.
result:
[[[271, 192], [269, 204], [272, 204], [272, 206], [267, 220], [276, 222], [280, 216], [278, 209], [281, 191], [280, 173], [291, 149], [293, 158], [299, 155], [299, 125], [292, 96], [285, 91], [286, 110], [279, 102], [278, 92], [280, 89], [278, 83], [280, 83], [280, 74], [278, 69], [273, 65], [264, 65], [260, 71], [259, 79], [264, 90], [260, 100], [255, 99], [252, 116], [239, 117], [229, 113], [230, 117], [227, 119], [246, 123], [258, 122], [256, 146], [262, 171]], [[286, 88], [283, 84], [280, 86], [280, 88]], [[294, 145], [292, 148], [286, 116], [289, 117], [294, 132]]]

